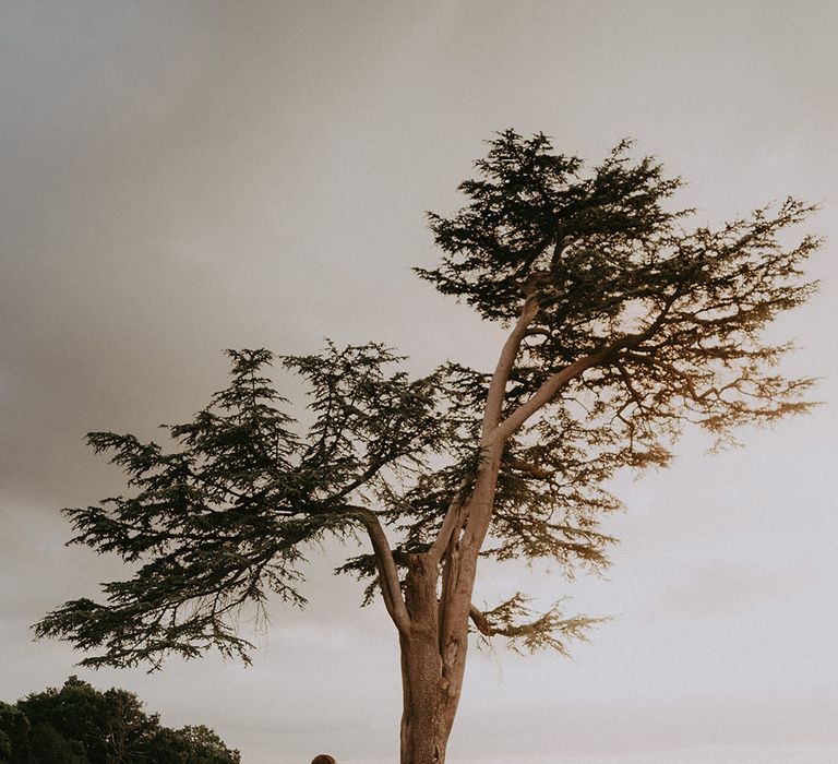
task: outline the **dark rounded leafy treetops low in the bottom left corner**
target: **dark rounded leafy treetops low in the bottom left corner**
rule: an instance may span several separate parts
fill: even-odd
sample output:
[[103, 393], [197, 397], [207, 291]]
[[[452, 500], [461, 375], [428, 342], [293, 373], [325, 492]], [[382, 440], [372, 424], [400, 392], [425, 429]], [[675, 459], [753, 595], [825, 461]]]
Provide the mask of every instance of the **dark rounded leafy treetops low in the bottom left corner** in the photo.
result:
[[14, 764], [240, 764], [207, 727], [163, 727], [133, 693], [100, 692], [76, 677], [0, 703], [0, 762]]

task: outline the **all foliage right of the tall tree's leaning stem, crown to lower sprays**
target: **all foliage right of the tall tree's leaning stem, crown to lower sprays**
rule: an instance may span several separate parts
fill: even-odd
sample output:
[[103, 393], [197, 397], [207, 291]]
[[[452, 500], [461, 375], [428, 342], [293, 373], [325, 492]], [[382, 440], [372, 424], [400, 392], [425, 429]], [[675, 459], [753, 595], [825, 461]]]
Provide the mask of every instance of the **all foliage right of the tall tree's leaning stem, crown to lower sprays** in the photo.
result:
[[[598, 357], [506, 444], [496, 544], [487, 550], [499, 559], [601, 566], [612, 539], [594, 532], [619, 505], [603, 490], [618, 469], [665, 466], [685, 425], [723, 444], [738, 426], [810, 406], [811, 380], [776, 372], [790, 346], [765, 344], [762, 331], [815, 288], [801, 265], [818, 239], [782, 243], [813, 207], [789, 199], [718, 230], [686, 230], [690, 211], [666, 206], [680, 180], [651, 158], [633, 162], [630, 148], [619, 144], [588, 171], [553, 154], [542, 134], [506, 131], [476, 163], [480, 177], [460, 184], [466, 206], [431, 214], [444, 256], [435, 270], [417, 268], [422, 278], [503, 323], [525, 300], [537, 305], [504, 416], [554, 374]], [[488, 377], [476, 407], [487, 390]]]

